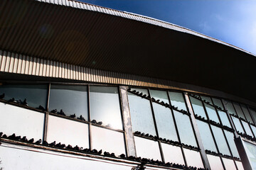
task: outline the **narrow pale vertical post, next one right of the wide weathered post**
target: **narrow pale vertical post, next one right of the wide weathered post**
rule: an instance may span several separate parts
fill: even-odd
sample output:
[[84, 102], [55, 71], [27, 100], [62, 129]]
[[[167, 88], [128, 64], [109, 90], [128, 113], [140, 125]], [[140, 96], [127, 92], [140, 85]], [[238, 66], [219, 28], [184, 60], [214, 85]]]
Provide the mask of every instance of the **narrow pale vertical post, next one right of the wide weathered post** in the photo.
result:
[[206, 155], [206, 150], [203, 147], [203, 142], [201, 140], [201, 135], [200, 135], [200, 132], [198, 130], [198, 126], [196, 124], [196, 118], [195, 118], [195, 115], [193, 113], [193, 108], [192, 108], [191, 102], [189, 100], [188, 93], [185, 92], [184, 96], [185, 96], [185, 101], [186, 101], [187, 106], [188, 106], [188, 111], [189, 111], [189, 113], [191, 113], [191, 116], [190, 116], [191, 123], [192, 123], [192, 126], [193, 126], [193, 130], [195, 132], [195, 135], [196, 135], [196, 140], [198, 142], [198, 147], [200, 148], [200, 153], [201, 153], [203, 164], [204, 164], [206, 169], [210, 169], [210, 164], [208, 162], [208, 158], [207, 158], [207, 155]]

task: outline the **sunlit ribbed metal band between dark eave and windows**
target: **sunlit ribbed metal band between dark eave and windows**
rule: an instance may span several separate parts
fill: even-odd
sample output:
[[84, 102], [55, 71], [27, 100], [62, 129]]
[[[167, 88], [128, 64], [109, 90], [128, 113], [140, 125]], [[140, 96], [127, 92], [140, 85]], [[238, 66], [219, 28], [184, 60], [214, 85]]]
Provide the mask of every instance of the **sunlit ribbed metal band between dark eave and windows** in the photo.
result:
[[89, 69], [73, 64], [43, 60], [14, 52], [0, 50], [0, 72], [27, 74], [38, 77], [54, 77], [107, 84], [124, 84], [132, 86], [148, 86], [163, 89], [176, 89], [171, 81], [141, 77], [132, 74], [107, 72], [100, 69]]

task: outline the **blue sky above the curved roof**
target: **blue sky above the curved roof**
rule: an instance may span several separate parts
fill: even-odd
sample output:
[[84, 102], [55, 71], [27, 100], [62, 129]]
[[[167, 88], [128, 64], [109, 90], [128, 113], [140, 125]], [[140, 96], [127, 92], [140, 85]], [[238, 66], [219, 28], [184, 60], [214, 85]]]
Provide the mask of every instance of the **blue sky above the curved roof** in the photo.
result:
[[256, 55], [256, 0], [80, 0], [149, 16]]

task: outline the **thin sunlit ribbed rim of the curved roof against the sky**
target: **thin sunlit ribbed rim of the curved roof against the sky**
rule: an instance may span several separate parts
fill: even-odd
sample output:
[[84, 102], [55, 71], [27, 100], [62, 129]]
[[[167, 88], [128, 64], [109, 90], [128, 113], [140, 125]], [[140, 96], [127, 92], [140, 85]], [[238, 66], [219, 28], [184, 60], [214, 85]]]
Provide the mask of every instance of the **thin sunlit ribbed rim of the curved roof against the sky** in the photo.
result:
[[171, 30], [177, 30], [183, 33], [189, 33], [191, 35], [197, 35], [198, 37], [201, 38], [205, 38], [207, 40], [211, 40], [214, 42], [218, 42], [220, 44], [223, 45], [227, 45], [229, 47], [233, 47], [236, 50], [240, 50], [242, 52], [246, 52], [249, 55], [253, 55], [256, 57], [255, 54], [253, 54], [252, 52], [248, 52], [246, 50], [243, 50], [240, 47], [236, 47], [235, 45], [231, 45], [228, 42], [224, 42], [222, 40], [218, 40], [216, 38], [212, 38], [208, 35], [204, 35], [202, 33], [198, 33], [194, 30], [182, 27], [182, 26], [178, 26], [174, 23], [168, 23], [166, 21], [161, 21], [159, 19], [156, 18], [151, 18], [148, 16], [143, 16], [143, 15], [139, 15], [137, 13], [131, 13], [131, 12], [127, 12], [127, 11], [118, 11], [116, 9], [112, 9], [112, 8], [107, 8], [107, 7], [103, 7], [103, 6], [97, 6], [94, 4], [87, 4], [85, 2], [80, 2], [80, 1], [75, 1], [75, 0], [34, 0], [34, 1], [41, 1], [41, 2], [45, 2], [45, 3], [49, 3], [49, 4], [56, 4], [56, 5], [60, 5], [60, 6], [70, 6], [73, 8], [80, 8], [80, 9], [85, 9], [85, 10], [89, 10], [89, 11], [96, 11], [96, 12], [100, 12], [100, 13], [105, 13], [105, 14], [110, 14], [112, 16], [120, 16], [123, 18], [128, 18], [128, 19], [132, 19], [134, 21], [141, 21], [144, 23], [149, 23], [155, 26], [160, 26], [163, 28], [168, 28]]

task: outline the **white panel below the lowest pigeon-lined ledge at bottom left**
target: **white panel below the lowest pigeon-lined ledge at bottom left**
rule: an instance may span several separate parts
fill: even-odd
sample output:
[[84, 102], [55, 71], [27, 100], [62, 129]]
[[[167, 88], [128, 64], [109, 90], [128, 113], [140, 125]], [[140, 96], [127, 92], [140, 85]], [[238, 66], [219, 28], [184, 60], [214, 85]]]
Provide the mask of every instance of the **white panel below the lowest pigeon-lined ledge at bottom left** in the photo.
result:
[[[38, 149], [39, 152], [31, 152], [34, 148], [28, 147], [1, 147], [0, 157], [3, 170], [18, 169], [18, 170], [46, 170], [46, 169], [75, 169], [75, 170], [131, 170], [131, 166], [135, 164], [122, 164], [102, 161], [102, 159], [90, 160], [89, 157], [76, 156], [74, 154], [63, 154], [61, 152], [45, 151]], [[89, 159], [86, 159], [89, 158]], [[10, 160], [15, 160], [10, 161]]]

